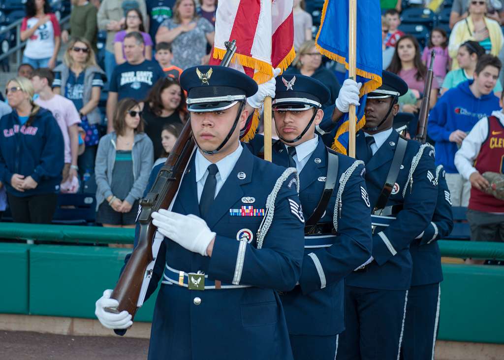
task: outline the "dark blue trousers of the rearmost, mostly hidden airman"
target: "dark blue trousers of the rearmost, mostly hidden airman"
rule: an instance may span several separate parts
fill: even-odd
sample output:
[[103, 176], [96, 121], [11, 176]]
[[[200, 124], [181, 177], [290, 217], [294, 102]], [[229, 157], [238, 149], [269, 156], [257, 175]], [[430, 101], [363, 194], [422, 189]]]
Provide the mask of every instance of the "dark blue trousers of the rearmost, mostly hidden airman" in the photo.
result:
[[439, 283], [411, 286], [409, 289], [401, 359], [434, 358], [434, 346], [439, 330], [440, 295]]

